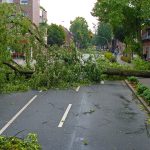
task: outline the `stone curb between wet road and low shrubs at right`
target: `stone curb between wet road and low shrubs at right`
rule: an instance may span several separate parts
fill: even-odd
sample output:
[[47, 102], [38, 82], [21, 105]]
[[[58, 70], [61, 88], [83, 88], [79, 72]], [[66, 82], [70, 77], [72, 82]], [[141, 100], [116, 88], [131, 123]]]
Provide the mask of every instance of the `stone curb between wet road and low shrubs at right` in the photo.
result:
[[130, 90], [134, 93], [134, 95], [138, 98], [138, 100], [144, 106], [144, 108], [148, 111], [148, 113], [150, 114], [150, 107], [147, 105], [147, 103], [144, 101], [144, 99], [136, 94], [136, 91], [134, 90], [134, 88], [130, 85], [130, 83], [127, 80], [125, 80], [125, 83], [130, 88]]

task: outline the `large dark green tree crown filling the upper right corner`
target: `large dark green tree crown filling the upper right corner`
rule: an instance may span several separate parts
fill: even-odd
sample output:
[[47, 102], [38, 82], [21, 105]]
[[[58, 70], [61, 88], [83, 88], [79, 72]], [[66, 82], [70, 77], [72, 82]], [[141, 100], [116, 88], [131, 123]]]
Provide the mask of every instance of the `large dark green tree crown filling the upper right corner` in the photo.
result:
[[141, 29], [149, 24], [150, 0], [97, 0], [92, 14], [113, 28], [122, 26], [130, 40], [142, 46]]

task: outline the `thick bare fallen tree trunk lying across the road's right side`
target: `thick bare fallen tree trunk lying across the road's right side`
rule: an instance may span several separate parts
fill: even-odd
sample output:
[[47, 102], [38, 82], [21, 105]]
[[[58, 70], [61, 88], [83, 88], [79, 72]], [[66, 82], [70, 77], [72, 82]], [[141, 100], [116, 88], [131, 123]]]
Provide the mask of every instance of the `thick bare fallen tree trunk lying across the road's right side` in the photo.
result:
[[103, 73], [107, 75], [116, 75], [116, 76], [125, 76], [125, 77], [135, 76], [135, 77], [150, 78], [150, 71], [137, 71], [137, 70], [108, 68]]

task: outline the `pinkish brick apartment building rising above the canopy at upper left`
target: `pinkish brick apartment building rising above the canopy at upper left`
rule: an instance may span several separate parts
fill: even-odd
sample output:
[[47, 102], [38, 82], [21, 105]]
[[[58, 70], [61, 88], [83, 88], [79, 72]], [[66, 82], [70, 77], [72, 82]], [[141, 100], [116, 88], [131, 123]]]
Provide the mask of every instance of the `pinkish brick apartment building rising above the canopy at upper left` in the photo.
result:
[[0, 0], [1, 3], [16, 3], [22, 7], [24, 15], [37, 26], [40, 23], [40, 0]]

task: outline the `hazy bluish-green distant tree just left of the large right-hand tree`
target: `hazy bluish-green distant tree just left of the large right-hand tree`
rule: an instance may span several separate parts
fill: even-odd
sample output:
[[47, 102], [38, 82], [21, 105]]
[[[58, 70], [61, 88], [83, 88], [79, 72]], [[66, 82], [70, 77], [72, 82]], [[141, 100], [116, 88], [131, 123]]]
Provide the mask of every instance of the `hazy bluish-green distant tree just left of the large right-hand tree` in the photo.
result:
[[95, 42], [97, 46], [107, 46], [112, 39], [111, 26], [107, 23], [100, 22], [98, 25], [97, 33], [95, 35]]

